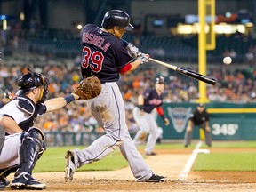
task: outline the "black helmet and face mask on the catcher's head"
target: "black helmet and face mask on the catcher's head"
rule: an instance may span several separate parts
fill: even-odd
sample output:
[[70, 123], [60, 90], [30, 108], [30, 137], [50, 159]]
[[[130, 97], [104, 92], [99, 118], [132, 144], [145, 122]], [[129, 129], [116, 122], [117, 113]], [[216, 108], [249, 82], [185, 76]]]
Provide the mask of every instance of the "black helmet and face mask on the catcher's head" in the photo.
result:
[[44, 92], [39, 101], [44, 101], [49, 92], [48, 85], [49, 85], [49, 80], [44, 75], [30, 71], [28, 74], [24, 76], [20, 76], [20, 79], [18, 82], [19, 91], [16, 93], [16, 95], [17, 96], [24, 95], [24, 94], [27, 94], [28, 92], [31, 92], [33, 89], [36, 89], [37, 87], [43, 87]]

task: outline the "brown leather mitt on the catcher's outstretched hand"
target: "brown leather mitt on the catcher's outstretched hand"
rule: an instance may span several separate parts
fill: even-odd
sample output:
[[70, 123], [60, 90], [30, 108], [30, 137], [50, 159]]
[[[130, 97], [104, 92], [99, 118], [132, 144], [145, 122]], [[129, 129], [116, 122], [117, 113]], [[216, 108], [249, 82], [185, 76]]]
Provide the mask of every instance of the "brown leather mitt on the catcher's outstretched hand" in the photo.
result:
[[73, 89], [73, 93], [79, 96], [81, 100], [90, 100], [97, 97], [101, 92], [100, 79], [97, 76], [90, 76], [84, 78], [76, 88]]

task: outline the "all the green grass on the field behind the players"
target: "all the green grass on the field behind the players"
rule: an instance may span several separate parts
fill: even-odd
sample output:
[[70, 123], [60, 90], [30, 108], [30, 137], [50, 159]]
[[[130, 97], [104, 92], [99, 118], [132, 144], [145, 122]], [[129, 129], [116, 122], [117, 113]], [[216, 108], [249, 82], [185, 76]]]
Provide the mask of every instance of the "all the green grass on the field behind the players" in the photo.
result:
[[[196, 140], [192, 143], [188, 149], [196, 147]], [[68, 149], [84, 148], [84, 147], [56, 147], [47, 148], [44, 155], [36, 163], [34, 172], [63, 172], [65, 169], [66, 159], [65, 154]], [[140, 146], [139, 149], [142, 151], [145, 145]], [[183, 141], [173, 142], [170, 144], [156, 145], [157, 149], [184, 149]], [[208, 148], [203, 144], [202, 148]], [[212, 141], [212, 148], [256, 148], [256, 141]], [[186, 149], [187, 150], [187, 149]], [[148, 156], [144, 156], [145, 158]], [[210, 154], [198, 154], [196, 162], [193, 166], [195, 171], [256, 171], [256, 153], [253, 151], [248, 152], [232, 152], [230, 153], [214, 153], [211, 151]], [[119, 149], [116, 149], [112, 154], [106, 156], [98, 162], [92, 164], [85, 164], [77, 171], [110, 171], [119, 170], [128, 166], [124, 157], [121, 155]]]

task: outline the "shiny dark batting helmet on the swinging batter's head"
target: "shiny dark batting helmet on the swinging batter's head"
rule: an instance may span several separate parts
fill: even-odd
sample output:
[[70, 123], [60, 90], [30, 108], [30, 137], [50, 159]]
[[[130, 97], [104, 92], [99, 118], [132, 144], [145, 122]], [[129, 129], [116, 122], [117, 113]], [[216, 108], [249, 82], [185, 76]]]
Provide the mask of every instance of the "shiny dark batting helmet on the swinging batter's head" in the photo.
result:
[[114, 26], [124, 28], [127, 31], [132, 31], [134, 28], [130, 23], [130, 16], [121, 10], [111, 10], [106, 12], [102, 20], [101, 26], [109, 29]]

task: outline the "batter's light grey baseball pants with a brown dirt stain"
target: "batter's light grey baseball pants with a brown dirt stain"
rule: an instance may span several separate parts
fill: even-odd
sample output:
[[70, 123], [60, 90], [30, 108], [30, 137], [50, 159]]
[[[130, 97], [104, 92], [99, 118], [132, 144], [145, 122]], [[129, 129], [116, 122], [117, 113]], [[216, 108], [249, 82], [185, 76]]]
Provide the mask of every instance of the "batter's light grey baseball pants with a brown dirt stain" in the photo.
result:
[[95, 140], [88, 148], [72, 150], [76, 168], [98, 161], [119, 147], [136, 180], [148, 180], [153, 172], [140, 155], [128, 132], [124, 100], [118, 85], [116, 83], [102, 84], [100, 95], [86, 102], [106, 134]]

